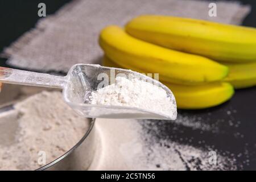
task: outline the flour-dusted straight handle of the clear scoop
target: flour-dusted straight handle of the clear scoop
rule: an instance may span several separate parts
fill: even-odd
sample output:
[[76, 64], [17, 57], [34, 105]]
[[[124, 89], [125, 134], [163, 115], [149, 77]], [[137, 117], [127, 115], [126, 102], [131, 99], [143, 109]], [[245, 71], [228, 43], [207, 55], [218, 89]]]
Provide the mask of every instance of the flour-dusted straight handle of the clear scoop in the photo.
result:
[[0, 67], [0, 82], [7, 84], [63, 88], [66, 77]]

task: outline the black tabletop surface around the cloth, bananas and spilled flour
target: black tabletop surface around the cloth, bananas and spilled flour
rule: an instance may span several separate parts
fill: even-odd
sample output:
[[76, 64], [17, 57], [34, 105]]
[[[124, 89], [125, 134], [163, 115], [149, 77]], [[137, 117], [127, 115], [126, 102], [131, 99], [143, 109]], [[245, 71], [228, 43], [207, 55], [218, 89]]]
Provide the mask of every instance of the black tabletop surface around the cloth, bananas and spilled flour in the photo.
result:
[[[46, 3], [47, 15], [55, 13], [69, 0], [0, 0], [0, 52], [9, 46], [24, 32], [35, 27], [38, 21], [38, 3]], [[243, 21], [244, 26], [256, 27], [256, 1], [241, 1], [250, 4], [251, 13]], [[242, 36], [242, 35], [241, 35]], [[6, 59], [0, 59], [0, 66], [8, 67]], [[179, 114], [201, 118], [205, 124], [214, 126], [216, 131], [200, 131], [170, 123], [161, 125], [164, 136], [173, 135], [174, 140], [184, 136], [191, 138], [189, 144], [202, 147], [199, 141], [204, 140], [203, 147], [212, 147], [222, 155], [236, 159], [238, 169], [256, 170], [256, 87], [236, 90], [229, 102], [204, 110], [179, 110]], [[160, 136], [161, 137], [161, 136]], [[180, 142], [180, 141], [179, 141]], [[187, 141], [181, 143], [187, 144]]]

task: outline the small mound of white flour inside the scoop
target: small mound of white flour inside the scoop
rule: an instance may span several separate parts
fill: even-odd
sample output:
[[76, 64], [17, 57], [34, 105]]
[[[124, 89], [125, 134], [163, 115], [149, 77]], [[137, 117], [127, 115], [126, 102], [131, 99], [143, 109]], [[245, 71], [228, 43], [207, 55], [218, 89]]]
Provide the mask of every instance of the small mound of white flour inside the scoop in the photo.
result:
[[177, 115], [174, 96], [168, 96], [160, 86], [151, 82], [116, 77], [115, 83], [96, 90], [90, 96], [91, 104], [130, 106], [151, 110], [175, 119]]

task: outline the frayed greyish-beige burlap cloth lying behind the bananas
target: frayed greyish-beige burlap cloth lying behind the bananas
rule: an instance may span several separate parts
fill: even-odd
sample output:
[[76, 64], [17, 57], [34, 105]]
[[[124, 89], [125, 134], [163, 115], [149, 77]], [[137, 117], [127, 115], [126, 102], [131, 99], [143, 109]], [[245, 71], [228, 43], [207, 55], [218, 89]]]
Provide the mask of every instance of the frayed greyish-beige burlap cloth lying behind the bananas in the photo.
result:
[[[217, 17], [208, 15], [208, 1], [185, 0], [76, 0], [55, 15], [40, 19], [2, 57], [7, 64], [40, 71], [63, 71], [76, 63], [100, 63], [100, 30], [109, 24], [123, 26], [134, 16], [160, 14], [240, 24], [250, 6], [237, 2], [216, 2]], [[47, 5], [46, 5], [47, 7]]]

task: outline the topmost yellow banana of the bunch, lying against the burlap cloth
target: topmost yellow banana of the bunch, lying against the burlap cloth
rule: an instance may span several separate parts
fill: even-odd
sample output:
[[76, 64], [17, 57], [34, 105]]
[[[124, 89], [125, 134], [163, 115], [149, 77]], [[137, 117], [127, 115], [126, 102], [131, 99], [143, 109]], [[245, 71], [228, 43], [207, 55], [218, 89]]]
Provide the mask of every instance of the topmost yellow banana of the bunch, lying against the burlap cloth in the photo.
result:
[[142, 15], [126, 24], [135, 38], [213, 60], [256, 61], [256, 28], [172, 16]]

